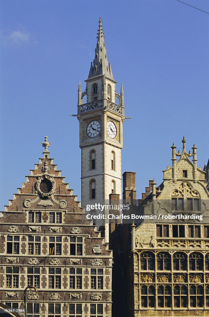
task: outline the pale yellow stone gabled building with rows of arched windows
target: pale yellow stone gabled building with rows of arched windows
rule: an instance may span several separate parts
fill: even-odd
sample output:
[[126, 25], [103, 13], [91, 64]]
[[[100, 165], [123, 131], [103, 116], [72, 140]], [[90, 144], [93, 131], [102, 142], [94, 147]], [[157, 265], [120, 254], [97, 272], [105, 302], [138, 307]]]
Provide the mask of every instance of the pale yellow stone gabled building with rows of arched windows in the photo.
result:
[[[209, 316], [206, 172], [197, 167], [195, 145], [191, 154], [185, 138], [182, 143], [181, 153], [173, 144], [172, 167], [163, 171], [160, 186], [152, 181], [152, 191], [143, 200], [143, 214], [150, 218], [131, 225], [131, 248], [123, 249], [128, 271], [124, 316]], [[189, 219], [191, 215], [196, 216]]]

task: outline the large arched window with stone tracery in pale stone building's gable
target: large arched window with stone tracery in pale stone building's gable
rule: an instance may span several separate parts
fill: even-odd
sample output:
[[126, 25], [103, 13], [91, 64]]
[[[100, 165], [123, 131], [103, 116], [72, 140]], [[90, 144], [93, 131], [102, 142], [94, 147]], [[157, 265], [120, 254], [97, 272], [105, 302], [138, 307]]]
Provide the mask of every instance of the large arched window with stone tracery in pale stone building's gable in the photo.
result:
[[200, 211], [200, 195], [188, 183], [181, 183], [171, 195], [172, 210]]

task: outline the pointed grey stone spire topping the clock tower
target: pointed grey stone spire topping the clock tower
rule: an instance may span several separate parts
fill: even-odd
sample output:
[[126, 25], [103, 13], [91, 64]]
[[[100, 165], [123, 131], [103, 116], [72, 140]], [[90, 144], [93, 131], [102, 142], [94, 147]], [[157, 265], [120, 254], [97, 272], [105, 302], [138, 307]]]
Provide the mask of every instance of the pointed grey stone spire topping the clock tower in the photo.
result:
[[93, 63], [91, 63], [90, 71], [89, 71], [89, 78], [105, 75], [108, 78], [113, 79], [112, 70], [110, 63], [107, 60], [107, 51], [105, 48], [105, 36], [102, 29], [102, 18], [99, 18], [99, 28], [97, 32], [97, 44], [95, 49], [95, 57]]

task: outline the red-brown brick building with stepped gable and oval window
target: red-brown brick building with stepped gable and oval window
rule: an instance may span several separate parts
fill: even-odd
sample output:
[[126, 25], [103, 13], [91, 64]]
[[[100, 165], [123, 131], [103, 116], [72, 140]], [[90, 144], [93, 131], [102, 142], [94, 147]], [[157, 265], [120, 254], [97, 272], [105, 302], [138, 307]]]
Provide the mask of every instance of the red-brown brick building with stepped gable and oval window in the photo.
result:
[[112, 252], [49, 158], [49, 145], [46, 137], [43, 158], [1, 213], [1, 300], [24, 309], [25, 294], [28, 317], [111, 317]]

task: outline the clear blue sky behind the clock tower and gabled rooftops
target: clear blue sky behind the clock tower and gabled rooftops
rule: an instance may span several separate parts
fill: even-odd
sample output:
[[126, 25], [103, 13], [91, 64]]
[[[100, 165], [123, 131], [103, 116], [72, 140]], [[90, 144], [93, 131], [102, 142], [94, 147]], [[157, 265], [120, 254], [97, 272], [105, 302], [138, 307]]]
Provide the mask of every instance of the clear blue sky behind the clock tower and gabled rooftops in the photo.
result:
[[[209, 12], [208, 0], [187, 3]], [[136, 171], [137, 197], [162, 182], [173, 142], [208, 160], [209, 15], [175, 0], [1, 2], [1, 202], [50, 157], [80, 199], [78, 82], [85, 90], [102, 16], [114, 79], [124, 84], [122, 171]]]

